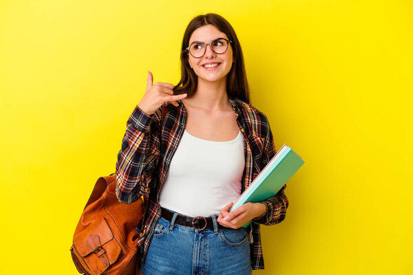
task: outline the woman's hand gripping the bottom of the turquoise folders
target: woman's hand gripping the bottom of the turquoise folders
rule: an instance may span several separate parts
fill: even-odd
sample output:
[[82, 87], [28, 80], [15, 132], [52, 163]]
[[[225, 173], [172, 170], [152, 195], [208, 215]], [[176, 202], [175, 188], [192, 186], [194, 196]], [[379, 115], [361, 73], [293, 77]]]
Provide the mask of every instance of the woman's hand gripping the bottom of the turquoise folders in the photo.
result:
[[217, 221], [220, 225], [233, 229], [238, 229], [245, 223], [248, 223], [248, 221], [261, 217], [266, 210], [265, 204], [260, 202], [247, 202], [233, 210], [233, 212], [229, 212], [232, 206], [233, 202], [222, 208]]

